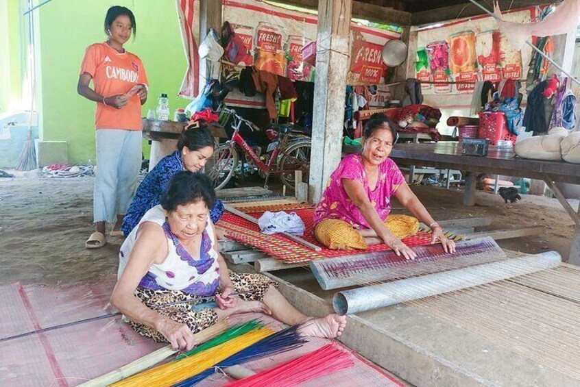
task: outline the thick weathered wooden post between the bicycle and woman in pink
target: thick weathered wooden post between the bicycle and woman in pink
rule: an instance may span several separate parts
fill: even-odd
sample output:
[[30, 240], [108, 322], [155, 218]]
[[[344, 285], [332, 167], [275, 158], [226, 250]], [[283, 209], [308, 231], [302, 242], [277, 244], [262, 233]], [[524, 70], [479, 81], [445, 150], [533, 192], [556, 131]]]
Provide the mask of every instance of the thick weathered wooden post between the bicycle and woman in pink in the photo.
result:
[[316, 78], [309, 199], [317, 203], [326, 182], [340, 162], [346, 97], [346, 75], [350, 64], [349, 32], [352, 0], [318, 2]]

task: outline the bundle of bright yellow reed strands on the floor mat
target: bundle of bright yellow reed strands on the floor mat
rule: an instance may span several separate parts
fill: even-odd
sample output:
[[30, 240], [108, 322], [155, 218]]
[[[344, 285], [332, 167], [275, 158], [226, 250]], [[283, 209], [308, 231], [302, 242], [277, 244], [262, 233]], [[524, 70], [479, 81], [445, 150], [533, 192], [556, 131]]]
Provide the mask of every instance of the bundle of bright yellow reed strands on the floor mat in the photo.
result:
[[189, 356], [188, 358], [184, 358], [177, 362], [162, 364], [154, 369], [150, 369], [121, 382], [112, 384], [112, 386], [169, 387], [215, 366], [215, 364], [221, 362], [221, 360], [229, 358], [234, 353], [250, 347], [250, 345], [273, 333], [274, 331], [267, 327], [254, 329], [242, 336], [223, 342], [217, 347], [206, 349], [206, 351], [196, 353], [193, 356]]

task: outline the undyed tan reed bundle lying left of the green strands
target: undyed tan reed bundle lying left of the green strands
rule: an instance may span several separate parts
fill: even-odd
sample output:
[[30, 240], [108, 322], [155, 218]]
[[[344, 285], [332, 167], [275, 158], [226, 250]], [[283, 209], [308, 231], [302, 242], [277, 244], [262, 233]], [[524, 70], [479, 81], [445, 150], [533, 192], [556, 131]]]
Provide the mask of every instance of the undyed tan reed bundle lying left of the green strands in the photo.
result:
[[[218, 323], [208, 327], [197, 334], [194, 334], [193, 337], [195, 338], [195, 342], [206, 342], [211, 338], [225, 332], [228, 329], [228, 323], [226, 321], [219, 321]], [[154, 366], [158, 362], [169, 358], [169, 356], [176, 353], [175, 349], [171, 348], [171, 345], [167, 345], [167, 347], [162, 347], [157, 351], [149, 353], [149, 355], [143, 356], [143, 358], [139, 358], [134, 362], [130, 362], [129, 364], [122, 366], [119, 369], [111, 371], [110, 373], [106, 373], [105, 375], [101, 375], [92, 379], [88, 382], [81, 384], [79, 387], [105, 387], [109, 384], [119, 382], [120, 380], [125, 379], [125, 377], [130, 377], [135, 375], [136, 373], [140, 373], [141, 371], [148, 369], [149, 367]]]

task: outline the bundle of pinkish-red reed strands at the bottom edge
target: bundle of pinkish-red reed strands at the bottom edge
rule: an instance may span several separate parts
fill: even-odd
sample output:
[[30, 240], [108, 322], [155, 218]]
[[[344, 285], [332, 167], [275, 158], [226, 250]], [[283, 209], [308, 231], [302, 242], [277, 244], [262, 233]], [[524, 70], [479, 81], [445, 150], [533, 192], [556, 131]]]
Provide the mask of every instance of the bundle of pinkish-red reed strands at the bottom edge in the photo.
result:
[[352, 366], [354, 360], [350, 353], [328, 344], [268, 371], [226, 384], [226, 387], [293, 387]]

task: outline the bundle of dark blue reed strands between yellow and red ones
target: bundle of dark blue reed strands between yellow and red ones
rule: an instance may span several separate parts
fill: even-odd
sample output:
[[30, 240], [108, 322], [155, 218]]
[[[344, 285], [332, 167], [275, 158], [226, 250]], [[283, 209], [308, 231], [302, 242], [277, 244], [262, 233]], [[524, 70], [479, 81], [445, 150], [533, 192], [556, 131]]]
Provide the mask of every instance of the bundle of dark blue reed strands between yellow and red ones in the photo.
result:
[[228, 373], [228, 367], [230, 366], [236, 366], [259, 358], [265, 358], [266, 356], [276, 355], [276, 353], [291, 351], [292, 349], [302, 347], [307, 340], [296, 332], [297, 329], [298, 325], [282, 329], [280, 332], [276, 332], [217, 363], [214, 368], [207, 369], [198, 375], [185, 379], [183, 382], [173, 385], [173, 387], [195, 386], [195, 384], [215, 373], [215, 369], [217, 368], [225, 369], [225, 372]]

